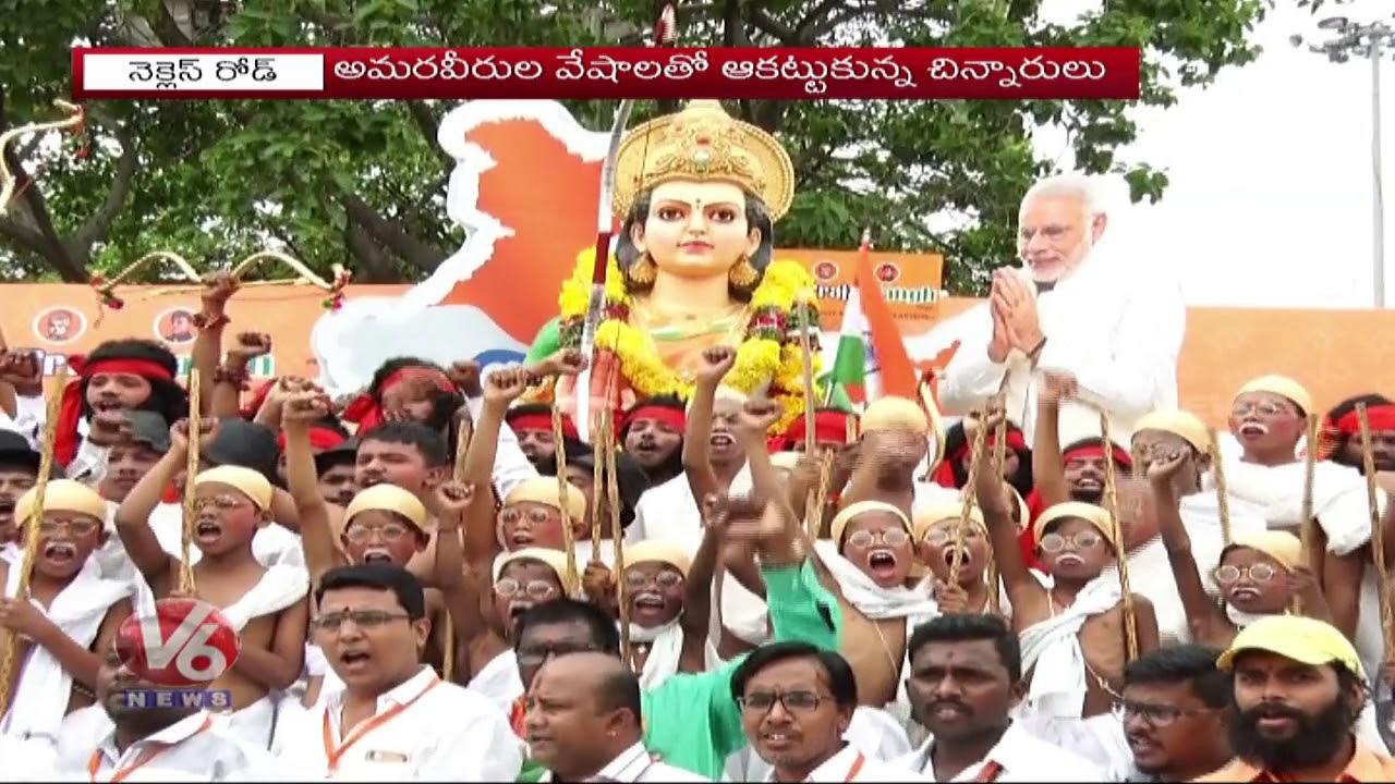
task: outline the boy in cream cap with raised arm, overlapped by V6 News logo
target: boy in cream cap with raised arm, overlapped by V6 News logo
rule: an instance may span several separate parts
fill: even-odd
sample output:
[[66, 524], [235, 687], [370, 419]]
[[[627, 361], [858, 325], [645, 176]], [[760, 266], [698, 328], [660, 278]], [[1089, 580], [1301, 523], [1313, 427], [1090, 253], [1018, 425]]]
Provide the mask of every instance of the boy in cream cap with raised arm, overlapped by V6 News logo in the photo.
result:
[[[180, 561], [165, 551], [149, 526], [151, 509], [184, 467], [187, 423], [176, 424], [170, 439], [170, 451], [116, 511], [116, 529], [126, 552], [148, 596], [156, 600], [181, 590]], [[276, 723], [276, 692], [290, 688], [304, 667], [308, 573], [290, 564], [262, 566], [252, 555], [252, 537], [271, 523], [272, 485], [264, 474], [219, 466], [201, 472], [193, 481], [198, 515], [193, 520], [193, 545], [202, 552], [191, 566], [195, 596], [219, 607], [241, 640], [237, 660], [209, 688], [232, 692], [229, 727], [248, 742], [268, 748]]]

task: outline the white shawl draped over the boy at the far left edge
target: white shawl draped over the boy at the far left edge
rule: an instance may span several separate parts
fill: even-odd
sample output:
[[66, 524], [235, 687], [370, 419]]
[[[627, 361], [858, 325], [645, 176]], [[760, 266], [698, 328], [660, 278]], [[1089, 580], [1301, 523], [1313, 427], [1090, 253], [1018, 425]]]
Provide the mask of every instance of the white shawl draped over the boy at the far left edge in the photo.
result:
[[[4, 589], [8, 598], [14, 598], [18, 593], [20, 572], [21, 569], [17, 568], [10, 569]], [[88, 557], [82, 569], [67, 587], [59, 591], [49, 610], [43, 610], [32, 597], [29, 601], [49, 621], [63, 629], [63, 633], [73, 642], [82, 647], [92, 647], [107, 611], [130, 594], [131, 583], [102, 579], [100, 565], [95, 558]], [[18, 714], [11, 710], [6, 716], [4, 734], [57, 738], [59, 725], [68, 709], [71, 688], [73, 675], [64, 670], [57, 657], [43, 646], [32, 646], [10, 702], [11, 706], [24, 706], [24, 709]]]

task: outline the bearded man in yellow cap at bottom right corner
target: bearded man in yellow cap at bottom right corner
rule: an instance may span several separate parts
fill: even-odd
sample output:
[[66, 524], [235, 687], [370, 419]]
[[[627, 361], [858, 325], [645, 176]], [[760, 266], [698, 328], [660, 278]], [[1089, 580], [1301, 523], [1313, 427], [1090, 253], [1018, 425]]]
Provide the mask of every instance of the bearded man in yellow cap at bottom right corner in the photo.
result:
[[1236, 759], [1196, 781], [1395, 781], [1395, 759], [1353, 732], [1366, 674], [1336, 628], [1269, 615], [1242, 629], [1216, 665], [1232, 672]]

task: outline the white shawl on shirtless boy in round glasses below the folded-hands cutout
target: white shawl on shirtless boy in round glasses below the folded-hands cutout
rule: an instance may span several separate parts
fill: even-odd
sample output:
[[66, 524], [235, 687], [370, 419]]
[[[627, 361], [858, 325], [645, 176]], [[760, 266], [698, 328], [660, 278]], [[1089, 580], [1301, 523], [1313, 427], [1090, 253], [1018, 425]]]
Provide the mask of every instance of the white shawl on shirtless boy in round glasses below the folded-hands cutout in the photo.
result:
[[[1052, 587], [1049, 576], [1035, 571], [1032, 575], [1048, 590]], [[1122, 597], [1117, 571], [1105, 569], [1080, 589], [1070, 607], [1023, 631], [1023, 671], [1032, 671], [1027, 692], [1031, 713], [1080, 718], [1089, 689], [1080, 629], [1092, 615], [1112, 610]]]

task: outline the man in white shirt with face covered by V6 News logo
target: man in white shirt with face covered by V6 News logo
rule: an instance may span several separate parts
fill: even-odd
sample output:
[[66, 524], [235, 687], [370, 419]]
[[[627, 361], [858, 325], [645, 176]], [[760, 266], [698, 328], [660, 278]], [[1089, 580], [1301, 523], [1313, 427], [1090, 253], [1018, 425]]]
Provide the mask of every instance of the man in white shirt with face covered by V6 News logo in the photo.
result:
[[[130, 696], [153, 688], [110, 647], [98, 670], [98, 703], [75, 711], [59, 732], [60, 777], [131, 783], [282, 778], [276, 760], [243, 742], [227, 728], [226, 717], [180, 707], [179, 698], [172, 707], [148, 707], [145, 699]], [[80, 714], [86, 720], [80, 721]]]

